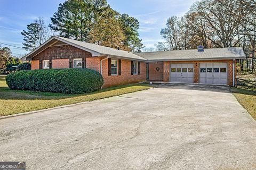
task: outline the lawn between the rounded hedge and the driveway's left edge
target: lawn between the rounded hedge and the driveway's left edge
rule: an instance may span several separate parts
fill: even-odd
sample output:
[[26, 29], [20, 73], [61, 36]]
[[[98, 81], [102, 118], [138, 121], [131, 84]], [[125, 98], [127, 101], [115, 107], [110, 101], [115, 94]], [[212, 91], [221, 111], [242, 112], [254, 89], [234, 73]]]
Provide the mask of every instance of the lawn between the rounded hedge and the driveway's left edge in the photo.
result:
[[127, 84], [101, 89], [90, 94], [68, 95], [28, 90], [10, 90], [5, 82], [5, 77], [0, 75], [0, 116], [103, 99], [151, 87], [149, 84]]

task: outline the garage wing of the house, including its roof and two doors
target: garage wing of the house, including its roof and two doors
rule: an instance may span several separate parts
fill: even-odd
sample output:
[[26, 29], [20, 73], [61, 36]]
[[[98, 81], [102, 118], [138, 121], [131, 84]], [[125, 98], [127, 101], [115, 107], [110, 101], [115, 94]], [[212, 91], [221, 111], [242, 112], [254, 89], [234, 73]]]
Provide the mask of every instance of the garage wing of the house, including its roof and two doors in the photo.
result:
[[[207, 48], [201, 53], [197, 49], [186, 49], [136, 55], [146, 58], [149, 63], [154, 63], [149, 64], [151, 72], [149, 71], [148, 80], [229, 86], [235, 86], [236, 83], [237, 60], [245, 58], [241, 47]], [[151, 75], [155, 75], [154, 79], [151, 79]]]

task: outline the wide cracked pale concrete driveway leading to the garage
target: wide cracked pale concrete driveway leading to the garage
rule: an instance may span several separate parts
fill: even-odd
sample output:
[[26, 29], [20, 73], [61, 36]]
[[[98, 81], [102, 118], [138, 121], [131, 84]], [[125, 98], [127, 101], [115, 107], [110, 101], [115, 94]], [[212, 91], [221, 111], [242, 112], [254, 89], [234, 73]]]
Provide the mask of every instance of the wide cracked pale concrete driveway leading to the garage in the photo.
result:
[[27, 169], [256, 169], [256, 123], [228, 87], [169, 84], [0, 120], [0, 161], [26, 161]]

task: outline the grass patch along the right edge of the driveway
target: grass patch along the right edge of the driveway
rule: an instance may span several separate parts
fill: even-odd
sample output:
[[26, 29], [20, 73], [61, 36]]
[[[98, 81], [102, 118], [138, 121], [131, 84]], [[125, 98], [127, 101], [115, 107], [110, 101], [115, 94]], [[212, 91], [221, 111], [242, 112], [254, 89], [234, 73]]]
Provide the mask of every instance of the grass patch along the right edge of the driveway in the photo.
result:
[[256, 120], [256, 76], [254, 74], [239, 75], [236, 88], [231, 88], [238, 102]]

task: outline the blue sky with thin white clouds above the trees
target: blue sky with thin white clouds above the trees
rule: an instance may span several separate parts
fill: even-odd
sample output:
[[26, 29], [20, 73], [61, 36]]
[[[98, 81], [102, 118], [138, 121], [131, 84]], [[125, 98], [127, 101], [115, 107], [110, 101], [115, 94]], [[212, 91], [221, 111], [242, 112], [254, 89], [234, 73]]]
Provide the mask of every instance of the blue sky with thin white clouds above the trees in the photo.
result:
[[[59, 3], [65, 0], [0, 0], [0, 43], [22, 47], [20, 32], [26, 25], [42, 16], [47, 24], [57, 11]], [[140, 39], [147, 47], [154, 47], [163, 41], [160, 30], [172, 15], [182, 16], [196, 0], [108, 0], [119, 13], [127, 13], [140, 21]], [[2, 45], [6, 46], [6, 45]], [[6, 46], [10, 47], [10, 46]], [[14, 56], [28, 53], [26, 50], [10, 47]]]

